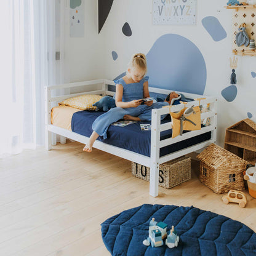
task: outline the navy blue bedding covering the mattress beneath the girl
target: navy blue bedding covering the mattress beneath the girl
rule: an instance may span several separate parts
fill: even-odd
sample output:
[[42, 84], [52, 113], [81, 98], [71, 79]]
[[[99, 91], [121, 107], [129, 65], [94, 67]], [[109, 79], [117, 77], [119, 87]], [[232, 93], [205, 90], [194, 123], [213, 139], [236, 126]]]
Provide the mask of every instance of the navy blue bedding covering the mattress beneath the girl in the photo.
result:
[[[73, 114], [71, 121], [71, 129], [77, 134], [90, 137], [92, 134], [92, 123], [94, 120], [103, 114], [103, 111], [78, 111]], [[164, 122], [170, 122], [170, 119], [163, 120]], [[119, 148], [124, 148], [129, 151], [133, 151], [144, 156], [150, 156], [150, 140], [151, 132], [140, 129], [140, 124], [151, 124], [151, 121], [137, 122], [135, 124], [129, 124], [128, 126], [118, 127], [110, 126], [107, 132], [108, 138], [105, 140], [103, 137], [98, 137], [98, 140], [113, 145]], [[161, 140], [172, 137], [172, 129], [164, 130], [161, 132]], [[160, 156], [173, 153], [188, 146], [195, 145], [200, 142], [204, 142], [210, 139], [210, 132], [198, 135], [193, 138], [188, 138], [182, 142], [174, 143], [173, 145], [165, 146], [160, 149]]]

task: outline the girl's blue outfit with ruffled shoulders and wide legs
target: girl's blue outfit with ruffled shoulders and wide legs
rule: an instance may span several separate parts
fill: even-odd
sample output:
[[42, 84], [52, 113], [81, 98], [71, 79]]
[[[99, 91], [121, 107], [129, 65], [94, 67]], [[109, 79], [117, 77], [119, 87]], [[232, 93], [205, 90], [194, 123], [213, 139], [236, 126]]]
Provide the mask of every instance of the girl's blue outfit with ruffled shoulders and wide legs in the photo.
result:
[[[122, 102], [131, 102], [132, 100], [140, 100], [143, 98], [143, 84], [148, 81], [148, 76], [143, 78], [140, 82], [134, 82], [132, 84], [126, 84], [124, 79], [118, 79], [114, 82], [121, 84], [123, 87]], [[138, 105], [136, 108], [111, 108], [108, 112], [102, 114], [95, 119], [92, 124], [92, 129], [97, 132], [98, 135], [106, 138], [106, 131], [108, 127], [120, 119], [123, 119], [124, 115], [130, 114], [131, 116], [138, 116], [142, 121], [151, 120], [151, 110], [154, 108], [162, 108], [162, 106], [169, 105], [167, 102], [156, 102], [151, 106]], [[161, 119], [164, 119], [167, 114], [162, 115]]]

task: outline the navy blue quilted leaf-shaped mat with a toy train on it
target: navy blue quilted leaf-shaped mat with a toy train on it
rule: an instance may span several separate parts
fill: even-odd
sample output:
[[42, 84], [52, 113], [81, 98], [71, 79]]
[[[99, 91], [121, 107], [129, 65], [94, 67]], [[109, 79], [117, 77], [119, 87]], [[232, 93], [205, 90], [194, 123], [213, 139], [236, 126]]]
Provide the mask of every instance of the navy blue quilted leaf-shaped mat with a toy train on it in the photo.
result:
[[[144, 246], [150, 221], [175, 226], [180, 241], [169, 248]], [[143, 204], [102, 223], [102, 239], [111, 255], [256, 255], [256, 234], [246, 225], [223, 215], [191, 207]]]

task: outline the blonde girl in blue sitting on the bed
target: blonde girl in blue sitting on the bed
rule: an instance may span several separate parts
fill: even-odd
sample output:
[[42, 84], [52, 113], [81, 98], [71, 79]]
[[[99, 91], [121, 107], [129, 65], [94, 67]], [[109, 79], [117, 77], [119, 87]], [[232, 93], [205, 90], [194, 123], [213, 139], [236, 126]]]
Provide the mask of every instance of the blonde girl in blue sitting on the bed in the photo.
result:
[[[130, 60], [126, 76], [116, 82], [116, 108], [98, 116], [92, 124], [92, 135], [84, 146], [84, 151], [91, 152], [98, 136], [106, 138], [106, 131], [113, 122], [119, 119], [134, 121], [150, 121], [151, 110], [169, 105], [168, 102], [145, 102], [142, 98], [150, 97], [148, 90], [148, 76], [146, 74], [146, 57], [144, 54], [134, 54]], [[167, 114], [162, 115], [164, 119]]]

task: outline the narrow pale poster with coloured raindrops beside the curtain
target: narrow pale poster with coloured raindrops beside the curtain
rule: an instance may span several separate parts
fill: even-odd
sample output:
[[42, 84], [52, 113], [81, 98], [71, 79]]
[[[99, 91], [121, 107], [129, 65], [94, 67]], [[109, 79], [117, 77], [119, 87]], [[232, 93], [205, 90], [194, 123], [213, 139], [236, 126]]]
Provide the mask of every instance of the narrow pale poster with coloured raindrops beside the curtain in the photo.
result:
[[84, 37], [84, 0], [70, 0], [70, 37]]

